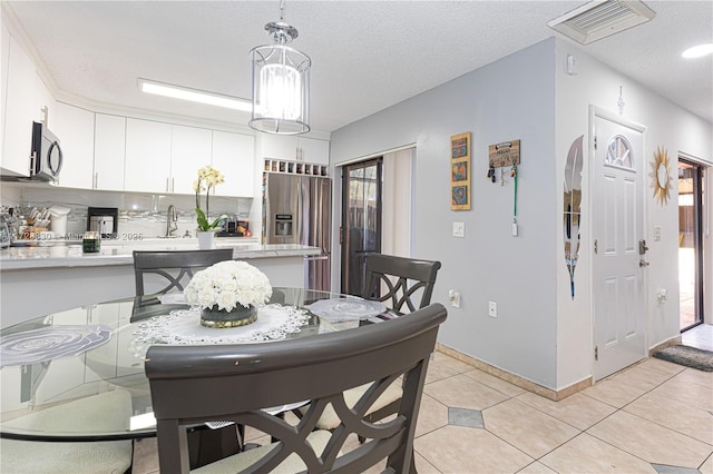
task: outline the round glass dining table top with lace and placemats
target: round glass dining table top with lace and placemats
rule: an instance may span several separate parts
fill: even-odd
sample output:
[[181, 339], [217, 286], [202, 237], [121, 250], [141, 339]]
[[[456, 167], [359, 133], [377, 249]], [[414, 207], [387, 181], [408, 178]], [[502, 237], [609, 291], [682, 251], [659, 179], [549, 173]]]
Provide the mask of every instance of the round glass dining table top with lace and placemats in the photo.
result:
[[[319, 303], [318, 303], [319, 302]], [[341, 309], [340, 309], [341, 308]], [[182, 295], [55, 313], [0, 330], [0, 437], [113, 441], [156, 435], [146, 350], [153, 344], [258, 344], [360, 326], [385, 308], [358, 297], [273, 288], [257, 322], [207, 328]]]

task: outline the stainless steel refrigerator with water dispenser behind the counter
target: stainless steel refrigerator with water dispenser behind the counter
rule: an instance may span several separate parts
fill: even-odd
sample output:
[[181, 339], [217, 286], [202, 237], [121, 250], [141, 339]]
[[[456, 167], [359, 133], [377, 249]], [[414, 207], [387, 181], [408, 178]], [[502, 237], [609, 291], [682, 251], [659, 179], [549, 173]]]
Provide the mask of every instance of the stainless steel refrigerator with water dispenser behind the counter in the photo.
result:
[[329, 290], [332, 180], [320, 176], [265, 174], [265, 244], [301, 244], [321, 249], [304, 258], [304, 286]]

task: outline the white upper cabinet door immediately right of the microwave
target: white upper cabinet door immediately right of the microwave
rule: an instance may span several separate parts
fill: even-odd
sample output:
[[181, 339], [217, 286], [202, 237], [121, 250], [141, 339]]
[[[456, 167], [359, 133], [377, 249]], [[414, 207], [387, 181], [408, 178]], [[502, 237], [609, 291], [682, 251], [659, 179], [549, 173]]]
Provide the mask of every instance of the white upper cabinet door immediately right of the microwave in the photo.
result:
[[62, 147], [58, 186], [91, 189], [94, 182], [94, 112], [57, 102], [53, 132]]

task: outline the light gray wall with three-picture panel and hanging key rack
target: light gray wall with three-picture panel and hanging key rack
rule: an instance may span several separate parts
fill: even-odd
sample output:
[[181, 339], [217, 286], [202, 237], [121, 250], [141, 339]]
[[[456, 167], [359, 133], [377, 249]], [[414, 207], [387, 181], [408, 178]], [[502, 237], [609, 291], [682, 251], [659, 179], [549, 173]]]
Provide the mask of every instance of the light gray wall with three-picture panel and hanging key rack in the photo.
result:
[[[416, 145], [413, 256], [442, 263], [433, 300], [448, 304], [449, 289], [462, 295], [439, 340], [546, 387], [557, 385], [554, 62], [548, 39], [334, 131], [330, 151], [339, 165]], [[450, 136], [465, 131], [472, 134], [472, 207], [451, 211]], [[500, 186], [499, 170], [498, 182], [486, 178], [488, 146], [514, 139], [522, 161], [518, 237], [512, 180], [507, 175]], [[335, 209], [339, 216], [339, 199]], [[451, 236], [453, 221], [465, 223], [465, 238]], [[335, 218], [335, 235], [339, 225]], [[489, 300], [497, 318], [488, 316]]]

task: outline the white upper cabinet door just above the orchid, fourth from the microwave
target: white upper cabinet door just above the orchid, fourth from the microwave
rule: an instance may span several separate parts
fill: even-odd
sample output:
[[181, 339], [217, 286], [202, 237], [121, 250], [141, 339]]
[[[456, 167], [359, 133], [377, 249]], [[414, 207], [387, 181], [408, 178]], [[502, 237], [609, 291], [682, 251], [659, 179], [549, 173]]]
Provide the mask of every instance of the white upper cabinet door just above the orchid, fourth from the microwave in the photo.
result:
[[[173, 126], [170, 144], [170, 190], [194, 194], [198, 169], [211, 165], [212, 131], [206, 128]], [[223, 186], [223, 185], [221, 185]]]

